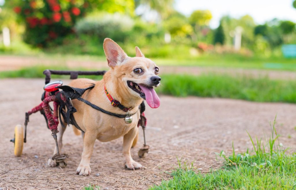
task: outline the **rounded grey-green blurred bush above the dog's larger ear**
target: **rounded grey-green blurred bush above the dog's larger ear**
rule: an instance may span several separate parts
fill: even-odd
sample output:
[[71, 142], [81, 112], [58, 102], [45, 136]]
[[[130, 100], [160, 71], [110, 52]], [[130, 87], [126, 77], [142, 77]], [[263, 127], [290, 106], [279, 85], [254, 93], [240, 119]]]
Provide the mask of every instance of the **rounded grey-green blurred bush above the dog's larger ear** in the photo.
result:
[[101, 39], [111, 38], [123, 42], [133, 27], [133, 20], [121, 14], [91, 14], [75, 25], [78, 34], [88, 34]]

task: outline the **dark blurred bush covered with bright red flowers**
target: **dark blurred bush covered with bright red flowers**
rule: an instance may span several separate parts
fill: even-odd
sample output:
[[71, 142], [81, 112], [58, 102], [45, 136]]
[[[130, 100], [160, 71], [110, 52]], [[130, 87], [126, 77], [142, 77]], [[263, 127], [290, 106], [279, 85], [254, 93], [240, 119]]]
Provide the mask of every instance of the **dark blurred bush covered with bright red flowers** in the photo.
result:
[[88, 6], [83, 0], [29, 0], [17, 5], [14, 11], [26, 27], [24, 41], [38, 47], [46, 47], [50, 41], [60, 43], [73, 32], [73, 25]]

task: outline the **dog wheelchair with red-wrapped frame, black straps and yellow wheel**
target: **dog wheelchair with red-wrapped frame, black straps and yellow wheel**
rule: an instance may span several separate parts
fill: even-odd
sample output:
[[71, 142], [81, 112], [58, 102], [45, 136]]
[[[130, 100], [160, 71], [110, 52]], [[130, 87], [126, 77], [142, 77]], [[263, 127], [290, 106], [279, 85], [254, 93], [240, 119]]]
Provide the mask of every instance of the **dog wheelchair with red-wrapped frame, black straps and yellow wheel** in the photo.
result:
[[[40, 112], [46, 121], [47, 128], [52, 131], [52, 136], [55, 141], [57, 153], [54, 154], [51, 159], [56, 161], [58, 166], [65, 167], [67, 163], [65, 159], [69, 157], [67, 154], [59, 153], [59, 146], [57, 142], [57, 126], [59, 122], [62, 127], [66, 127], [63, 125], [62, 119], [67, 123], [67, 125], [72, 124], [79, 130], [81, 128], [77, 125], [75, 118], [73, 117], [73, 113], [77, 110], [73, 107], [72, 100], [78, 99], [80, 101], [87, 101], [81, 98], [83, 93], [86, 90], [89, 90], [94, 87], [94, 85], [87, 88], [72, 88], [69, 86], [63, 86], [63, 82], [61, 80], [50, 82], [51, 75], [70, 75], [70, 79], [77, 79], [78, 75], [104, 75], [106, 71], [57, 71], [57, 70], [45, 70], [43, 74], [45, 75], [45, 86], [44, 92], [42, 94], [41, 100], [42, 102], [25, 113], [25, 129], [22, 125], [15, 126], [15, 135], [14, 138], [10, 141], [14, 143], [14, 154], [15, 156], [21, 156], [23, 144], [27, 142], [27, 125], [29, 122], [29, 116], [33, 113]], [[50, 102], [53, 102], [53, 108], [49, 105]], [[67, 109], [66, 109], [67, 108]], [[138, 151], [138, 155], [140, 158], [146, 157], [149, 146], [146, 144], [145, 138], [145, 128], [147, 119], [145, 118], [145, 104], [144, 102], [140, 105], [140, 119], [138, 121], [138, 127], [141, 126], [144, 134], [144, 146], [140, 148]], [[101, 110], [102, 111], [102, 110]], [[105, 110], [104, 110], [105, 111]], [[106, 111], [107, 112], [107, 111]], [[108, 114], [108, 113], [107, 113]], [[126, 121], [126, 118], [125, 118]], [[82, 131], [82, 130], [81, 130]], [[84, 132], [84, 131], [82, 131]]]

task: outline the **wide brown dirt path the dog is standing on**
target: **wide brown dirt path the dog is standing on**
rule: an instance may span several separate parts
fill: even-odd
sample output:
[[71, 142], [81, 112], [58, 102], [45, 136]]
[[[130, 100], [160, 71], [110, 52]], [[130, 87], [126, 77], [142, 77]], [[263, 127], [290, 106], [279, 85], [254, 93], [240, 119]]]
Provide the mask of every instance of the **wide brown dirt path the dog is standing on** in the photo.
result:
[[[65, 84], [67, 81], [64, 81]], [[246, 130], [252, 136], [269, 137], [270, 125], [277, 114], [280, 141], [284, 147], [296, 148], [296, 105], [285, 103], [253, 103], [217, 98], [174, 98], [160, 96], [158, 109], [147, 108], [147, 142], [151, 147], [147, 158], [137, 156], [142, 146], [142, 132], [133, 158], [145, 166], [144, 170], [127, 171], [122, 157], [122, 138], [102, 143], [96, 141], [91, 157], [90, 176], [78, 176], [75, 170], [82, 153], [81, 136], [66, 130], [63, 151], [70, 155], [66, 168], [50, 168], [54, 140], [39, 113], [30, 117], [28, 140], [21, 157], [13, 154], [16, 124], [24, 122], [24, 113], [40, 103], [44, 80], [0, 80], [0, 188], [4, 189], [81, 189], [96, 184], [102, 189], [147, 189], [170, 176], [178, 166], [177, 157], [194, 168], [207, 172], [221, 162], [215, 152], [231, 153], [252, 148]], [[288, 138], [288, 136], [290, 138]], [[266, 141], [264, 141], [266, 143]]]

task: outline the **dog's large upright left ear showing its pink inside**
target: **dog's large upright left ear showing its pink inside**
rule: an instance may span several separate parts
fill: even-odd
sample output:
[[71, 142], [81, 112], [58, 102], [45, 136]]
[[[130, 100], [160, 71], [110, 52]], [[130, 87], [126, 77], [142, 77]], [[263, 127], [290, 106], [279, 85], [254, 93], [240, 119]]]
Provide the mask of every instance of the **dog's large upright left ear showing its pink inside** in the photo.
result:
[[128, 57], [121, 47], [110, 38], [105, 38], [103, 48], [109, 67], [120, 65]]

